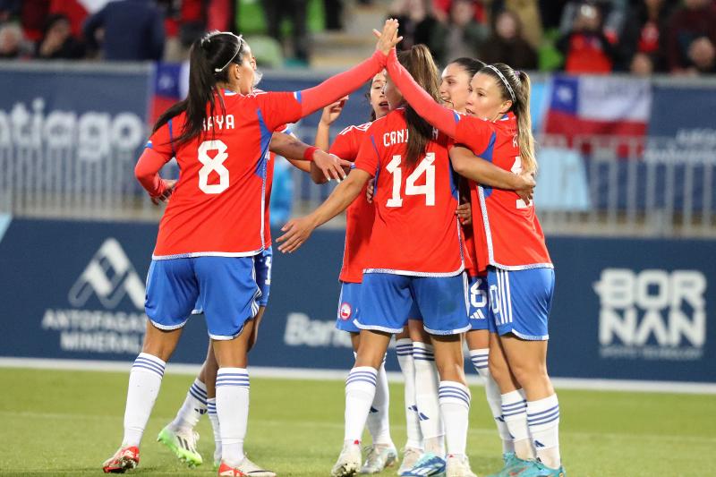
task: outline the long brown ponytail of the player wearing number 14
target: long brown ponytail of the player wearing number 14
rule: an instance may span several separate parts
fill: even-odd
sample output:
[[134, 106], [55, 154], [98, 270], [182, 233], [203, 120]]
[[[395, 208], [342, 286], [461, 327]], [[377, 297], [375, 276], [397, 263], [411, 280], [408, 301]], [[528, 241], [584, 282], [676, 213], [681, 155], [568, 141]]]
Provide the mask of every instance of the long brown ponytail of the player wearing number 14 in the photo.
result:
[[[422, 89], [435, 99], [440, 100], [440, 75], [438, 66], [430, 55], [430, 49], [425, 45], [415, 45], [409, 50], [397, 54], [397, 59], [405, 66]], [[414, 166], [425, 153], [428, 142], [432, 140], [432, 125], [418, 115], [413, 106], [405, 104], [405, 123], [408, 126], [408, 150], [405, 161]]]

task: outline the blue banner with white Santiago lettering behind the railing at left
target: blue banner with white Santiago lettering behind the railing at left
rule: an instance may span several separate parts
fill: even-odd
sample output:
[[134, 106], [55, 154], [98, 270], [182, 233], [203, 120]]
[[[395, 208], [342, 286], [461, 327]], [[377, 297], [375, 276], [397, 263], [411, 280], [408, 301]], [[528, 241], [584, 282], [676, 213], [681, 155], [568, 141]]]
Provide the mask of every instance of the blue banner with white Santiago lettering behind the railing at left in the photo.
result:
[[15, 197], [139, 192], [151, 76], [149, 65], [4, 65], [0, 183]]

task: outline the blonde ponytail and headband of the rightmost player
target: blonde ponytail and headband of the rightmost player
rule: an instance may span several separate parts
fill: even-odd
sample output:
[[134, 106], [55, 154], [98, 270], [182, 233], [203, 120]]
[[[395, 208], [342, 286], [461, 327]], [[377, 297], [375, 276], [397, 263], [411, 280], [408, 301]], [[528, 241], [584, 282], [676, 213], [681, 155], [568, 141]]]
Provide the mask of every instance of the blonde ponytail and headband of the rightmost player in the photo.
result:
[[515, 113], [517, 118], [517, 143], [522, 169], [524, 172], [537, 172], [530, 116], [530, 77], [526, 72], [516, 72], [504, 63], [489, 64], [480, 70], [480, 74], [490, 75], [497, 83], [502, 98], [512, 101], [508, 111]]

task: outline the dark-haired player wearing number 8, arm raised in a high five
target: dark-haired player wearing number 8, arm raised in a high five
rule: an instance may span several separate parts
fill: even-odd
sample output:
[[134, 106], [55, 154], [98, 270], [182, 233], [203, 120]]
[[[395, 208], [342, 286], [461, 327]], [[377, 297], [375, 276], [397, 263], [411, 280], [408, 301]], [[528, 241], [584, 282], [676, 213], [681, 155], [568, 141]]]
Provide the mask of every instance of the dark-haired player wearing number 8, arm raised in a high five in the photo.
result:
[[[192, 45], [186, 99], [162, 115], [136, 167], [153, 198], [166, 197], [158, 175], [176, 157], [182, 175], [159, 225], [149, 268], [149, 316], [142, 353], [130, 372], [124, 439], [104, 471], [124, 472], [139, 462], [141, 435], [186, 318], [197, 300], [213, 340], [217, 416], [221, 428], [219, 475], [274, 475], [243, 454], [249, 410], [247, 351], [259, 286], [255, 256], [264, 248], [265, 155], [271, 133], [357, 89], [379, 72], [397, 42], [388, 20], [370, 59], [319, 86], [294, 93], [249, 94], [250, 58], [242, 38], [209, 35]], [[226, 91], [228, 90], [228, 91]]]

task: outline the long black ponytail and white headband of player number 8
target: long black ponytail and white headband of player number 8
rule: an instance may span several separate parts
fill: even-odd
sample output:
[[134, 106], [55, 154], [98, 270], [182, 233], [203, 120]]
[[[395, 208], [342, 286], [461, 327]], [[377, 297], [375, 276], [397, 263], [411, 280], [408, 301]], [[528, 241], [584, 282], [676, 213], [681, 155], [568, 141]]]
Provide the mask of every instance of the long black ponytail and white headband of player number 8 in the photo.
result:
[[[192, 43], [189, 51], [189, 93], [186, 98], [160, 115], [153, 131], [157, 131], [175, 115], [186, 111], [181, 134], [173, 141], [183, 143], [199, 135], [209, 116], [214, 115], [217, 82], [228, 81], [229, 64], [241, 64], [244, 51], [241, 37], [233, 33], [212, 31]], [[221, 97], [219, 96], [221, 102]], [[222, 113], [224, 103], [219, 105]]]

